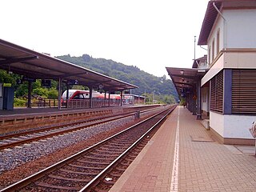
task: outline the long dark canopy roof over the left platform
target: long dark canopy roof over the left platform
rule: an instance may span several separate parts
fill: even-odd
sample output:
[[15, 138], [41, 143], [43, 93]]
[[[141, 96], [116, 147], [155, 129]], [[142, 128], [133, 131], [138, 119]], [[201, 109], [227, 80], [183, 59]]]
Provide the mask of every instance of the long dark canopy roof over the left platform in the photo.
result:
[[110, 78], [82, 66], [40, 54], [34, 50], [0, 39], [0, 69], [36, 79], [78, 80], [83, 86], [103, 86], [103, 90], [129, 90], [138, 88], [127, 82]]

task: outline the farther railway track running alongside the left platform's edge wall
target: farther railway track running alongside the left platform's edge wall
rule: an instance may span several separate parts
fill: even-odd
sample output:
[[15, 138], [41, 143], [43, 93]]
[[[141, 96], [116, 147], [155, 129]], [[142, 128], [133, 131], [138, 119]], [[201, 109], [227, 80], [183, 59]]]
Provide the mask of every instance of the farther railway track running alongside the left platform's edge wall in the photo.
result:
[[[153, 109], [155, 110], [155, 109]], [[152, 110], [142, 110], [140, 113], [150, 112]], [[115, 121], [121, 118], [126, 118], [134, 115], [134, 112], [126, 114], [118, 114], [112, 116], [105, 116], [100, 118], [87, 119], [85, 121], [78, 121], [66, 123], [64, 125], [49, 126], [38, 130], [24, 131], [18, 134], [9, 134], [0, 137], [0, 150], [20, 146], [25, 143], [36, 142], [38, 140], [51, 138], [61, 134], [67, 134], [76, 130], [82, 130], [89, 126], [96, 126], [98, 124]]]

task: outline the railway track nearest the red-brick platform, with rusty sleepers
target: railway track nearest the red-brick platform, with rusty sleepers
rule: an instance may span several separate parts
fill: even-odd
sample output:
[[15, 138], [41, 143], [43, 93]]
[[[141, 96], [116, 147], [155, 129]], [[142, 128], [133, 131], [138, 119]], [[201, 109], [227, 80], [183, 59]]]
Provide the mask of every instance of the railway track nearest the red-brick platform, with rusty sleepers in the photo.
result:
[[[2, 191], [97, 191], [106, 174], [170, 113], [164, 110], [134, 126], [22, 179]], [[134, 158], [134, 154], [131, 155]], [[120, 170], [120, 169], [119, 169]], [[113, 174], [112, 174], [113, 175]], [[114, 174], [116, 175], [116, 174]]]

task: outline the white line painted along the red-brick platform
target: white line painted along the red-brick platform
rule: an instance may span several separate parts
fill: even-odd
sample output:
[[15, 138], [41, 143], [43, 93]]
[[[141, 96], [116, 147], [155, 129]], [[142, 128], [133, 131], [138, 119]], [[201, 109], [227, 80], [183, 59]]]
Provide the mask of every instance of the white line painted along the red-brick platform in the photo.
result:
[[171, 182], [170, 191], [178, 191], [178, 147], [179, 147], [179, 110], [178, 107], [178, 120], [176, 127], [176, 138], [175, 138], [175, 148], [174, 148], [174, 165], [171, 172]]

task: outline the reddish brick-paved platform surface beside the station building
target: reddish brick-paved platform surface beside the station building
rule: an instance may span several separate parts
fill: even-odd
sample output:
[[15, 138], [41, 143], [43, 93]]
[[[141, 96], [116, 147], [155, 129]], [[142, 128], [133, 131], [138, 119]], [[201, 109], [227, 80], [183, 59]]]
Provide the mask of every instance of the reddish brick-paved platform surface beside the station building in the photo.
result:
[[110, 191], [256, 191], [254, 146], [215, 142], [195, 118], [178, 106]]

